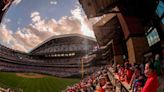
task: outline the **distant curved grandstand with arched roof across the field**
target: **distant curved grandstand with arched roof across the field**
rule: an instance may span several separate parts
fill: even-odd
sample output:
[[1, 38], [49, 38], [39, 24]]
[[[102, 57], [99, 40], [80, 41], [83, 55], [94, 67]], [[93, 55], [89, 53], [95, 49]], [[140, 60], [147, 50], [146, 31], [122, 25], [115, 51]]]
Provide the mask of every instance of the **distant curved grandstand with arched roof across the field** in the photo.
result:
[[[94, 38], [66, 34], [53, 36], [29, 53], [0, 45], [0, 71], [34, 72], [58, 77], [81, 74], [81, 58], [94, 51]], [[91, 63], [84, 61], [85, 72], [91, 72]]]

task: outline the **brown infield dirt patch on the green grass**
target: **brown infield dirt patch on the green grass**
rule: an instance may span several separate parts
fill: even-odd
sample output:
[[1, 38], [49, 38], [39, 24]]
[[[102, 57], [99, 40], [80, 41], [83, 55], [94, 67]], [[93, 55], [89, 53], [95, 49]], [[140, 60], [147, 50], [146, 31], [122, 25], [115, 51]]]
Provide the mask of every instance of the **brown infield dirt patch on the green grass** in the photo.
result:
[[36, 74], [36, 73], [16, 73], [17, 76], [25, 78], [44, 78], [46, 75]]

